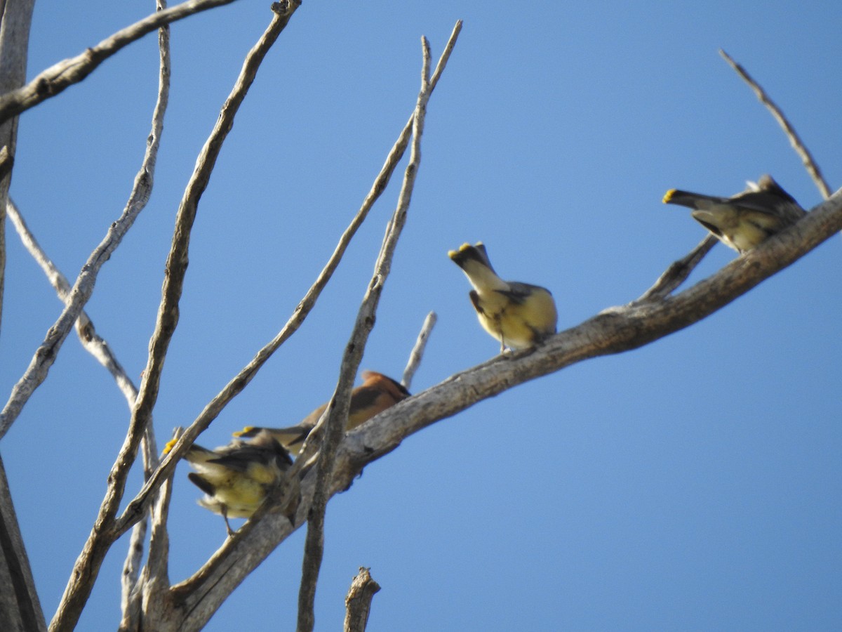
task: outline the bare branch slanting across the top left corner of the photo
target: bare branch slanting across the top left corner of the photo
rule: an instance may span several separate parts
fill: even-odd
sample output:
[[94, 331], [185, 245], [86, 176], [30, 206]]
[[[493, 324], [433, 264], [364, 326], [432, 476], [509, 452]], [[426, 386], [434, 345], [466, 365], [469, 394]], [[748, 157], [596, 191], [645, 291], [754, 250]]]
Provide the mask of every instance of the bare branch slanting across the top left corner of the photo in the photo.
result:
[[187, 18], [194, 13], [221, 7], [232, 2], [234, 0], [189, 0], [189, 2], [181, 3], [173, 8], [152, 13], [152, 15], [141, 19], [140, 22], [131, 24], [125, 29], [120, 29], [114, 35], [102, 40], [93, 48], [88, 48], [80, 55], [70, 57], [47, 68], [22, 88], [3, 94], [0, 97], [0, 123], [8, 121], [11, 117], [35, 107], [35, 105], [56, 96], [56, 94], [60, 94], [74, 83], [79, 83], [88, 77], [99, 64], [131, 44], [131, 42], [140, 40], [147, 33], [151, 33], [165, 24]]

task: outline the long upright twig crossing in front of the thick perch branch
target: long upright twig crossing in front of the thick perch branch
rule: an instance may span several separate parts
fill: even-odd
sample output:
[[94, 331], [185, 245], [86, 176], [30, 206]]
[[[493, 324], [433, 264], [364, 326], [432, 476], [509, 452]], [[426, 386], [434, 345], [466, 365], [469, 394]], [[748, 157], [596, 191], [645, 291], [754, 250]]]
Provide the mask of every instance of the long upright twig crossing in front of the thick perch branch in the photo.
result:
[[[381, 254], [375, 266], [368, 292], [365, 293], [360, 312], [354, 324], [354, 333], [349, 344], [345, 347], [342, 368], [339, 373], [339, 383], [333, 394], [328, 410], [322, 415], [319, 423], [327, 427], [322, 439], [316, 472], [316, 490], [313, 493], [312, 505], [307, 518], [307, 534], [304, 544], [304, 561], [302, 562], [301, 588], [298, 592], [298, 632], [311, 632], [316, 624], [314, 604], [316, 599], [316, 585], [319, 569], [322, 565], [324, 552], [324, 513], [330, 499], [330, 483], [333, 478], [333, 459], [339, 443], [344, 436], [344, 420], [348, 418], [351, 385], [360, 365], [365, 343], [374, 327], [377, 304], [380, 301], [383, 284], [392, 267], [392, 256], [397, 246], [397, 239], [406, 222], [409, 201], [412, 199], [415, 178], [421, 162], [421, 136], [424, 133], [424, 115], [429, 100], [429, 42], [421, 38], [424, 63], [421, 72], [421, 89], [418, 93], [418, 104], [413, 115], [412, 153], [403, 178], [401, 194], [398, 198], [397, 209], [389, 222], [386, 237], [383, 240]], [[327, 419], [325, 419], [327, 418]]]

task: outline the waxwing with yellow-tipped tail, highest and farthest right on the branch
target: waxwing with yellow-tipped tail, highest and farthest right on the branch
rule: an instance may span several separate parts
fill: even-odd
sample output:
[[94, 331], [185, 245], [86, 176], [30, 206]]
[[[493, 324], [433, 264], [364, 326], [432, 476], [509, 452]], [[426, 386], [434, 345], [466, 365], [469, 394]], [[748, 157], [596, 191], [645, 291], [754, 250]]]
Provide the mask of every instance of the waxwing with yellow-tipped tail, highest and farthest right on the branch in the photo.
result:
[[694, 209], [690, 216], [713, 233], [722, 244], [742, 254], [797, 222], [805, 215], [785, 190], [769, 174], [733, 197], [717, 197], [670, 189], [664, 204]]

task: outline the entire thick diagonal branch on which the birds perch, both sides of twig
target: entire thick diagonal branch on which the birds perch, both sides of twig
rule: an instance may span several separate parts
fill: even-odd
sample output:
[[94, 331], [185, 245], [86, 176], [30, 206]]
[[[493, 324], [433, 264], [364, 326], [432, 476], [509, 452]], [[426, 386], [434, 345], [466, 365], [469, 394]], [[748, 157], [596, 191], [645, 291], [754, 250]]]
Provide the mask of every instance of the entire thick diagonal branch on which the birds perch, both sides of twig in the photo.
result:
[[[331, 494], [346, 489], [367, 463], [392, 452], [410, 435], [456, 415], [483, 399], [589, 358], [629, 351], [694, 324], [791, 265], [842, 229], [842, 191], [814, 208], [795, 226], [778, 233], [716, 274], [676, 296], [658, 302], [609, 308], [583, 324], [562, 331], [533, 350], [498, 356], [404, 399], [349, 431], [338, 449]], [[298, 516], [312, 498], [313, 472], [302, 481]], [[248, 526], [248, 523], [247, 523]], [[296, 531], [280, 513], [270, 513], [248, 538], [228, 538], [203, 570], [173, 586], [184, 619], [217, 592], [230, 592], [281, 542]], [[189, 613], [189, 614], [187, 614]], [[210, 618], [203, 613], [188, 629]]]

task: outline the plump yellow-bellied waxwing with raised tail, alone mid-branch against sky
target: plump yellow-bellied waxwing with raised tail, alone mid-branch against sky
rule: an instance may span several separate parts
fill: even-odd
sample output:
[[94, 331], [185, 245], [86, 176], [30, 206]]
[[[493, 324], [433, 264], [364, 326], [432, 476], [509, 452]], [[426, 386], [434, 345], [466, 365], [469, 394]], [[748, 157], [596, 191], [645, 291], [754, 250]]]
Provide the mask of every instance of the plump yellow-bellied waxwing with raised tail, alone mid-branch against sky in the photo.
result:
[[447, 254], [471, 281], [468, 296], [482, 328], [500, 341], [500, 353], [507, 346], [529, 348], [556, 333], [556, 303], [545, 287], [501, 279], [482, 242], [462, 244]]

